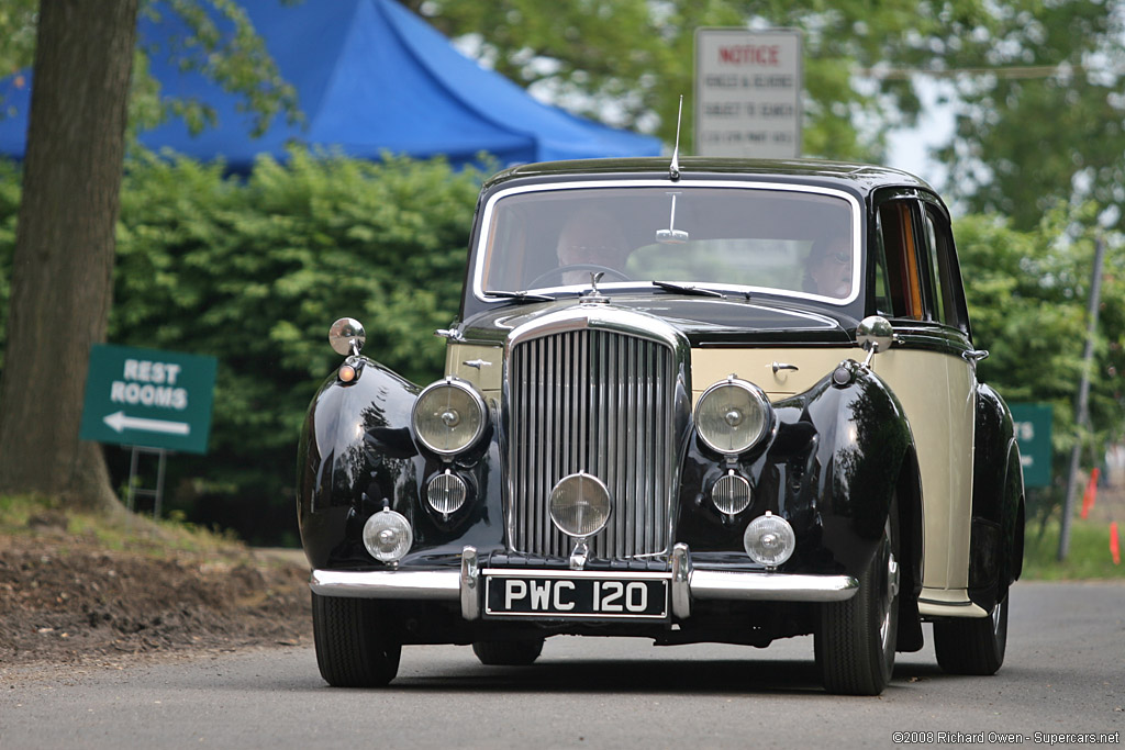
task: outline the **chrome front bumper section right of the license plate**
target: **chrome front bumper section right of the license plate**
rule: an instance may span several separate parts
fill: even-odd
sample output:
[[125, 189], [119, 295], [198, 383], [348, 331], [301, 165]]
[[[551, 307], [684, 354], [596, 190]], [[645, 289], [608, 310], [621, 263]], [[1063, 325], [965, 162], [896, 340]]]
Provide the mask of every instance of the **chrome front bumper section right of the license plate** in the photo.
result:
[[789, 573], [700, 570], [691, 573], [692, 596], [698, 599], [755, 602], [844, 602], [860, 590], [850, 576], [798, 576]]

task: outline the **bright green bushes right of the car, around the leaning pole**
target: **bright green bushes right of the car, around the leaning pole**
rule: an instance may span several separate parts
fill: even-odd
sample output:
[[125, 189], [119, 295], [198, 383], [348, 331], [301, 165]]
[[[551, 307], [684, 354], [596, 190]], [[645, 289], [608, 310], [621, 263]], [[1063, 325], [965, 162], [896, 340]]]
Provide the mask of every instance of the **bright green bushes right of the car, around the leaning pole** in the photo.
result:
[[[980, 377], [1008, 403], [1045, 403], [1054, 412], [1054, 489], [1036, 497], [1041, 516], [1061, 501], [1076, 440], [1076, 396], [1082, 377], [1095, 240], [1104, 234], [1096, 205], [1059, 207], [1030, 232], [996, 215], [956, 224], [957, 252], [973, 337], [991, 356]], [[1091, 368], [1090, 424], [1083, 455], [1100, 462], [1101, 448], [1120, 440], [1125, 422], [1125, 259], [1122, 237], [1109, 235]], [[1092, 460], [1091, 460], [1092, 459]]]

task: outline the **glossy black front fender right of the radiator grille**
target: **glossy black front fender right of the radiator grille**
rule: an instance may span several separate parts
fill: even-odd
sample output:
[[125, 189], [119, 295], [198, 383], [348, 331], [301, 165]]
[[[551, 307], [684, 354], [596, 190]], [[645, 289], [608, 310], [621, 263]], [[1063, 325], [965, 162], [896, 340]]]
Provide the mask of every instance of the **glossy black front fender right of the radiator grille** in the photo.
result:
[[[798, 537], [783, 572], [858, 576], [882, 539], [898, 493], [907, 495], [900, 505], [908, 506], [901, 516], [909, 570], [920, 569], [921, 545], [915, 542], [920, 534], [920, 508], [915, 508], [920, 506], [920, 493], [916, 470], [911, 473], [914, 439], [906, 414], [868, 368], [848, 360], [837, 373], [774, 404], [777, 424], [768, 444], [739, 459], [737, 470], [750, 480], [754, 501], [738, 516], [720, 513], [708, 500], [710, 488], [729, 466], [698, 439], [691, 441], [682, 472], [677, 536], [691, 546], [696, 561], [745, 560], [742, 532], [770, 510], [784, 516]], [[912, 478], [903, 480], [907, 475]]]

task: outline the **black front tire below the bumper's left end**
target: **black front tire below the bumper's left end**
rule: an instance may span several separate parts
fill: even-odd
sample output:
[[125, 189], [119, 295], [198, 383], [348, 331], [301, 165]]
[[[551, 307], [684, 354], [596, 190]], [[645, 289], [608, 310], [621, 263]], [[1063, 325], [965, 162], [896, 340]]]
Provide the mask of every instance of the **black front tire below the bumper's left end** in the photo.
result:
[[378, 602], [313, 594], [313, 635], [328, 685], [382, 687], [398, 674], [403, 647]]

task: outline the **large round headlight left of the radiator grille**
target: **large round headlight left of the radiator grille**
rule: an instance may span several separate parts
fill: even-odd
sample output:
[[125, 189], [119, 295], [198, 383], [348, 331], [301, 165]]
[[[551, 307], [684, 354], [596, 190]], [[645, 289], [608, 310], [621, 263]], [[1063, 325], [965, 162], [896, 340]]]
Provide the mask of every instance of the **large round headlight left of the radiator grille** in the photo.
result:
[[414, 401], [414, 434], [434, 453], [459, 453], [484, 433], [485, 408], [485, 400], [472, 386], [447, 378], [418, 394]]

